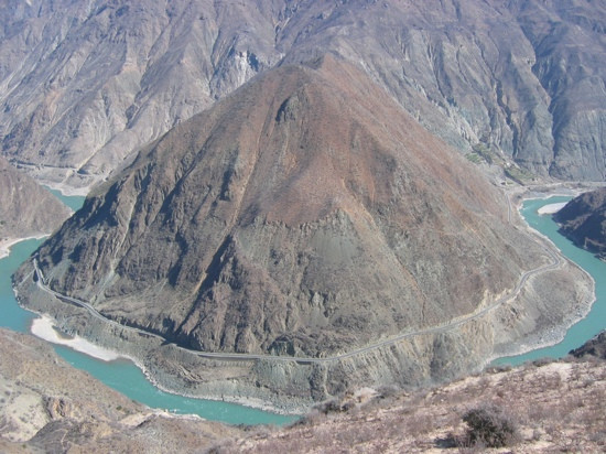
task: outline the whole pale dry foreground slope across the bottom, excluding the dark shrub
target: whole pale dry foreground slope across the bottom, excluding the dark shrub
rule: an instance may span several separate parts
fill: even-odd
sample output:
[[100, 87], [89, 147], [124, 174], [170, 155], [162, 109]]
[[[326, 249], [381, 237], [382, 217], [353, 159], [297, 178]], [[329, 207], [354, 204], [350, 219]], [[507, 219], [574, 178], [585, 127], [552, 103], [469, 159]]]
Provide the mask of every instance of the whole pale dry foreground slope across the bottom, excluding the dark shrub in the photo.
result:
[[496, 408], [517, 428], [507, 452], [606, 447], [606, 364], [591, 358], [537, 361], [407, 392], [360, 389], [292, 428], [244, 431], [133, 403], [31, 336], [0, 329], [0, 353], [3, 453], [457, 452], [468, 447], [463, 417], [475, 408]]

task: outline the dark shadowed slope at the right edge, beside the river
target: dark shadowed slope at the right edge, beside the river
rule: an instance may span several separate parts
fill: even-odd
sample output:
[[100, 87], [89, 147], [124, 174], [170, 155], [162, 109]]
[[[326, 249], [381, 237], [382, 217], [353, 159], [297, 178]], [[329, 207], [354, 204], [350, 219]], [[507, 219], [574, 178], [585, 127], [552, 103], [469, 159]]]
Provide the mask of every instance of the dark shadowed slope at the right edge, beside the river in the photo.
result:
[[576, 246], [606, 260], [606, 187], [575, 197], [553, 218]]

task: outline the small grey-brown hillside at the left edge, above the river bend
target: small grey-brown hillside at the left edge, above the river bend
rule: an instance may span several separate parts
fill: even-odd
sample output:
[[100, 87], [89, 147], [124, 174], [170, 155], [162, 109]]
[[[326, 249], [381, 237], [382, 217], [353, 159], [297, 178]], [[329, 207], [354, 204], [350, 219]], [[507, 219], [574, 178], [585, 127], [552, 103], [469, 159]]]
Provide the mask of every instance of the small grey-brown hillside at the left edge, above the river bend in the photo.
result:
[[47, 235], [68, 216], [55, 196], [0, 156], [0, 240]]

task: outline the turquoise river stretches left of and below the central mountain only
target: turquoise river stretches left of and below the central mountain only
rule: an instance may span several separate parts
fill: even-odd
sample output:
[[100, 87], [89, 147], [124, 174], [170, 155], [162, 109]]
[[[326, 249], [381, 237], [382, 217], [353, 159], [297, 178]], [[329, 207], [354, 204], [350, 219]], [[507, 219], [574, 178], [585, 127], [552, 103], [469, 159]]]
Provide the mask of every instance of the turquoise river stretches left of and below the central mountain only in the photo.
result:
[[[52, 191], [72, 209], [78, 209], [84, 197], [62, 196]], [[12, 273], [43, 240], [29, 239], [14, 245], [10, 255], [0, 260], [0, 326], [29, 333], [35, 314], [23, 310], [14, 299], [11, 279]], [[295, 415], [282, 415], [215, 400], [194, 399], [164, 392], [155, 388], [132, 361], [118, 359], [102, 361], [67, 347], [54, 346], [59, 356], [72, 366], [88, 371], [107, 386], [122, 392], [130, 399], [148, 407], [170, 410], [177, 414], [197, 414], [202, 418], [228, 424], [278, 424], [282, 425], [297, 419]]]

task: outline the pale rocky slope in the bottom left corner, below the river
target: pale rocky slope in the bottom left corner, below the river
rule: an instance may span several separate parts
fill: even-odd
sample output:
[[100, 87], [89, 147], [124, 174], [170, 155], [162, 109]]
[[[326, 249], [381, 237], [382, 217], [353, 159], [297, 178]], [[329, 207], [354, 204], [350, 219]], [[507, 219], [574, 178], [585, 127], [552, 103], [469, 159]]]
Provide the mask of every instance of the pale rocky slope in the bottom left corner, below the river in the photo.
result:
[[195, 452], [235, 428], [152, 411], [74, 369], [32, 336], [0, 329], [0, 451]]

